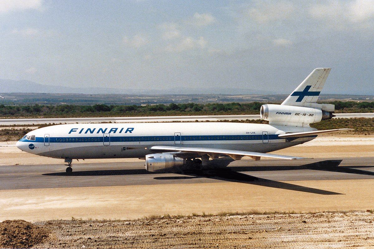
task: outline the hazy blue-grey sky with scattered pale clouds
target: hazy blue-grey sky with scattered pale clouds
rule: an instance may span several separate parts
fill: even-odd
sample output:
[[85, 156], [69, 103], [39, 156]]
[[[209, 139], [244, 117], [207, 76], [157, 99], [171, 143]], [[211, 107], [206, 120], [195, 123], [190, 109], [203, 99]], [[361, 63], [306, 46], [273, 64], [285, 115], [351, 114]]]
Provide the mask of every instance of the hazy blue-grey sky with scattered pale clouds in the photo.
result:
[[[374, 94], [374, 0], [0, 0], [0, 78], [61, 87]], [[0, 90], [1, 92], [1, 90]]]

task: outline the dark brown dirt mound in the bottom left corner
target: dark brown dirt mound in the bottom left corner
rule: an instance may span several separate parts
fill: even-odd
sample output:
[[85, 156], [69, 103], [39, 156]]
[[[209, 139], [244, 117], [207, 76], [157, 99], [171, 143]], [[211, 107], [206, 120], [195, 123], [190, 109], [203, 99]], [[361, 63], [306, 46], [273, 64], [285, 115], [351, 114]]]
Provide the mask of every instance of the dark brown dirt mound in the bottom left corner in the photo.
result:
[[29, 248], [43, 242], [49, 230], [24, 220], [0, 223], [0, 248]]

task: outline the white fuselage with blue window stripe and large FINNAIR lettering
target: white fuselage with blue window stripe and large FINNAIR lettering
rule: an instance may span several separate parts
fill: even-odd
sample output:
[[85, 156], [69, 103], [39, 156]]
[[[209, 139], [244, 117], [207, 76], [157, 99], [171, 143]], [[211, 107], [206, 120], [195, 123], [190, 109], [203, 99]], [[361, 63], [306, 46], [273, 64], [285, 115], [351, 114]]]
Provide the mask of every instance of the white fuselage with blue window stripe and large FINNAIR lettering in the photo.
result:
[[[310, 127], [229, 122], [64, 124], [40, 128], [17, 142], [25, 152], [52, 158], [145, 158], [154, 145], [271, 152], [310, 141], [278, 134]], [[35, 138], [34, 138], [35, 136]]]

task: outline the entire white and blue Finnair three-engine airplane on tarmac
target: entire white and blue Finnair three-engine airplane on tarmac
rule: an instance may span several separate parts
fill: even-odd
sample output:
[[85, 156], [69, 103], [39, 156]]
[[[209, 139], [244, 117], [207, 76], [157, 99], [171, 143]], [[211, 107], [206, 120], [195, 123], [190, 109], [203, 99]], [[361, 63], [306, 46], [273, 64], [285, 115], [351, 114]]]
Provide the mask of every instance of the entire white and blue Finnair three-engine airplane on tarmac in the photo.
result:
[[28, 153], [65, 160], [141, 158], [147, 171], [207, 167], [223, 157], [303, 159], [270, 154], [313, 140], [319, 134], [352, 129], [317, 130], [310, 124], [334, 117], [335, 106], [317, 103], [331, 68], [316, 68], [281, 105], [261, 106], [269, 124], [232, 122], [61, 124], [30, 131], [16, 146]]

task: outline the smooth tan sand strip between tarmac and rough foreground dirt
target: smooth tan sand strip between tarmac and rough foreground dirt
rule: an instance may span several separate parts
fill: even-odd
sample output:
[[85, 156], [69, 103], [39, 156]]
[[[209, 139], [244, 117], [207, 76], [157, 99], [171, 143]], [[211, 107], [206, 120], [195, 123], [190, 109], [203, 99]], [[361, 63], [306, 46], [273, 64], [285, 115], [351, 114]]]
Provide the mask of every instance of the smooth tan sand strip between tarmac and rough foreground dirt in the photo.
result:
[[374, 209], [373, 179], [285, 182], [343, 194], [323, 195], [231, 182], [1, 190], [0, 220], [135, 219], [252, 209], [260, 212]]

